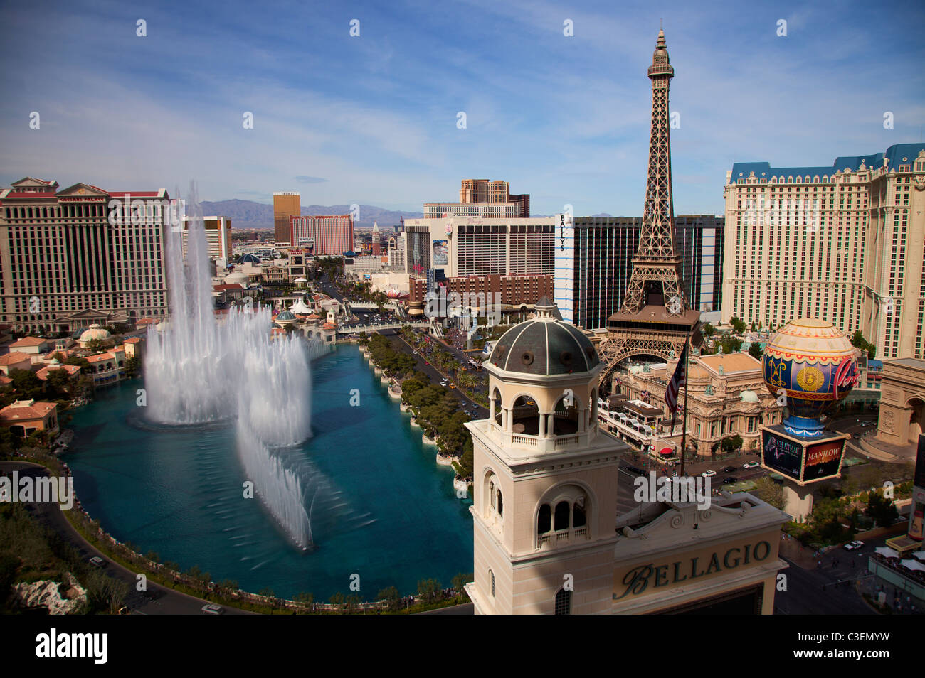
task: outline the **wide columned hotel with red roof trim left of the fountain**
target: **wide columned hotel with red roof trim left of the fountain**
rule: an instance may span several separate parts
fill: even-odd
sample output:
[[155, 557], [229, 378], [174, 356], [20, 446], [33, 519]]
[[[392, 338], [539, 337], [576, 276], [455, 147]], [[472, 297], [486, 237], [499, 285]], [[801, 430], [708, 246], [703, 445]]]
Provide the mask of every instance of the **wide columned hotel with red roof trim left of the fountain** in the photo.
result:
[[0, 322], [69, 332], [166, 316], [169, 204], [163, 188], [58, 190], [31, 176], [0, 190]]

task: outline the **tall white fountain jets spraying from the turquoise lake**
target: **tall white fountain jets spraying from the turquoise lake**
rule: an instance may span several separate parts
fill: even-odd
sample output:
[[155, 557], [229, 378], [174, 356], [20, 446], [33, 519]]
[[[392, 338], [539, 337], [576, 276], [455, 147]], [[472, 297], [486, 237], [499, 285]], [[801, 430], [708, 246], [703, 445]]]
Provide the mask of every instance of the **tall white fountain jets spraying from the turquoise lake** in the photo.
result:
[[[191, 190], [192, 193], [192, 190]], [[237, 418], [245, 478], [300, 548], [312, 545], [303, 480], [277, 450], [311, 435], [309, 351], [302, 339], [270, 335], [270, 309], [231, 309], [216, 320], [202, 213], [194, 197], [183, 259], [182, 231], [167, 234], [170, 321], [148, 331], [147, 417], [166, 425]]]

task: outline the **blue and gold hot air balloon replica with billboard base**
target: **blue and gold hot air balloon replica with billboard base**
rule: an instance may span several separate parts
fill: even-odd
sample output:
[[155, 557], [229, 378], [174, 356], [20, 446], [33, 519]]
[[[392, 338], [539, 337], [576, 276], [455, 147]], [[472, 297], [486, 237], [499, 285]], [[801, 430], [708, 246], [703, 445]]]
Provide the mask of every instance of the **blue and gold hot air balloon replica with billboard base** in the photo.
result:
[[783, 510], [796, 522], [812, 511], [807, 486], [841, 476], [850, 436], [825, 430], [822, 417], [857, 384], [858, 355], [831, 322], [807, 318], [788, 322], [765, 347], [764, 383], [786, 416], [761, 427], [761, 466], [783, 476]]

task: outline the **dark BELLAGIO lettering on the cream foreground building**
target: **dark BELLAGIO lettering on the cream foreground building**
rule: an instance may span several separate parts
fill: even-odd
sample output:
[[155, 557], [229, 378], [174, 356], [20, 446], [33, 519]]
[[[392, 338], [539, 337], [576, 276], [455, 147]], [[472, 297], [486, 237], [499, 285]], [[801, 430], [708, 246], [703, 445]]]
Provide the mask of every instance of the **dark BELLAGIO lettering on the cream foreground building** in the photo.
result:
[[615, 576], [613, 599], [639, 596], [649, 587], [669, 587], [702, 576], [717, 575], [745, 565], [755, 565], [766, 560], [769, 555], [771, 542], [759, 541], [757, 544], [734, 546], [727, 551], [714, 551], [709, 558], [695, 556], [673, 563], [637, 565], [628, 570], [623, 577], [619, 574]]

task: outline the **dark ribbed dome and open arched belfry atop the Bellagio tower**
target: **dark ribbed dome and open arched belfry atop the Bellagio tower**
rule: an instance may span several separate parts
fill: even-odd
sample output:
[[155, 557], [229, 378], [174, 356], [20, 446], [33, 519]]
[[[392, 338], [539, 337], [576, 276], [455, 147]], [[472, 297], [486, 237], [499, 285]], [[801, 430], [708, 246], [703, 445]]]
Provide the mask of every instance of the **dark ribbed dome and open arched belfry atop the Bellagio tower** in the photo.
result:
[[598, 436], [598, 377], [591, 340], [561, 321], [547, 297], [536, 317], [501, 335], [488, 372], [487, 432], [516, 456], [578, 450]]

